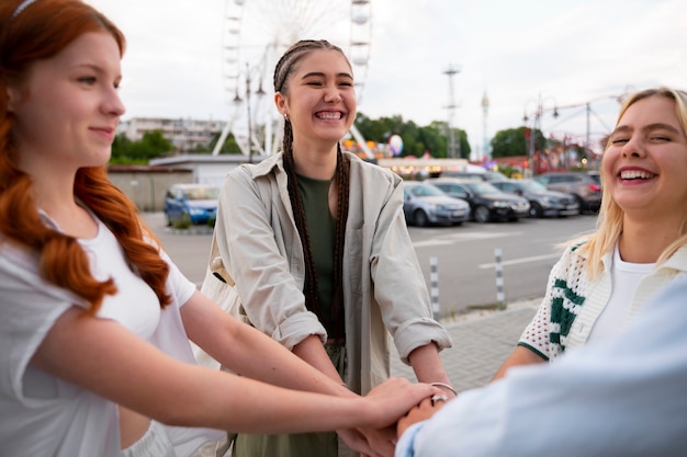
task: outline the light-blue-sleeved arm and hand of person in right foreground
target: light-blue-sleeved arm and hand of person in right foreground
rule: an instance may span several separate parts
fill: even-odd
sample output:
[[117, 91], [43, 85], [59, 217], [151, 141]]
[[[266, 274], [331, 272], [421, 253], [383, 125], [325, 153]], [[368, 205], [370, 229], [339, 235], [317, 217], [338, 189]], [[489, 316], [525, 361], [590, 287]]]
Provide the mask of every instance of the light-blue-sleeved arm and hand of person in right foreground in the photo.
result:
[[684, 456], [686, 305], [680, 275], [620, 335], [424, 400], [398, 422], [396, 457]]

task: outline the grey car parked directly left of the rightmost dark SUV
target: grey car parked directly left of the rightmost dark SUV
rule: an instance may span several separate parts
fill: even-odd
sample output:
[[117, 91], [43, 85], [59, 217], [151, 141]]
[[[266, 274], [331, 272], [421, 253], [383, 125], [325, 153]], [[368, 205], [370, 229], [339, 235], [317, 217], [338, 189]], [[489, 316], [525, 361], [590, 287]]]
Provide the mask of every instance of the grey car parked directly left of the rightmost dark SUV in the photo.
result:
[[530, 202], [530, 217], [575, 216], [579, 214], [577, 198], [563, 192], [549, 191], [533, 180], [507, 180], [492, 183], [508, 194], [519, 195]]

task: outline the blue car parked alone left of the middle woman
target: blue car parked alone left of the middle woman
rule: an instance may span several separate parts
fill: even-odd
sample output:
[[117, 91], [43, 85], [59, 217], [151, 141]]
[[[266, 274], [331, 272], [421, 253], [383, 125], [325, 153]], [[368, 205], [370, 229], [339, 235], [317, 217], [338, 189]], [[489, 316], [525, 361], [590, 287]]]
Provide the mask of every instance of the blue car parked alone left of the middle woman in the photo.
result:
[[219, 187], [209, 184], [173, 184], [165, 194], [165, 216], [171, 226], [183, 219], [207, 224], [217, 216]]

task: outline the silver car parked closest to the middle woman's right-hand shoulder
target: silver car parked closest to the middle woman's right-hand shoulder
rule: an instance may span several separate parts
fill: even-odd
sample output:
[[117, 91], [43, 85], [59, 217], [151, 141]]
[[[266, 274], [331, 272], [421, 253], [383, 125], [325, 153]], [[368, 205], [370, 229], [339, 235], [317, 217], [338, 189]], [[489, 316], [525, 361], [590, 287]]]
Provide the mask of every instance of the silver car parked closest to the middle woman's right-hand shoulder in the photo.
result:
[[470, 205], [446, 195], [431, 184], [418, 181], [403, 183], [403, 213], [409, 225], [430, 224], [460, 226], [470, 219]]

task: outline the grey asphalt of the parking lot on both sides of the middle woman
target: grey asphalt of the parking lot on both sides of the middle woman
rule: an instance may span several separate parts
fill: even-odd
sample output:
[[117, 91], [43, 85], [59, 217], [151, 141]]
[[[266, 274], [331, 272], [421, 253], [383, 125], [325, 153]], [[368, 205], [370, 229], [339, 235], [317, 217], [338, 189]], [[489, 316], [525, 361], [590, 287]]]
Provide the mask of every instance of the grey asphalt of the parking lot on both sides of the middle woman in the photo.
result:
[[[160, 238], [180, 270], [200, 285], [210, 254], [211, 231], [206, 227], [174, 230], [162, 213], [143, 218]], [[558, 244], [594, 229], [596, 218], [530, 219], [517, 222], [465, 222], [453, 227], [410, 227], [425, 279], [430, 288], [430, 262], [438, 269], [438, 304], [441, 316], [496, 304], [495, 250], [502, 251], [506, 301], [541, 297], [549, 271], [560, 255]]]

